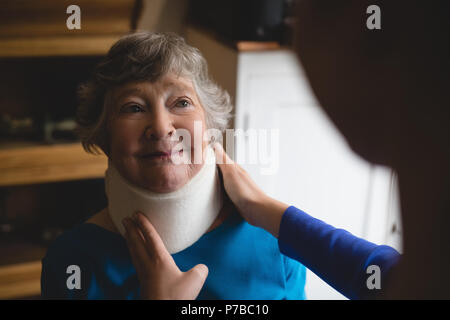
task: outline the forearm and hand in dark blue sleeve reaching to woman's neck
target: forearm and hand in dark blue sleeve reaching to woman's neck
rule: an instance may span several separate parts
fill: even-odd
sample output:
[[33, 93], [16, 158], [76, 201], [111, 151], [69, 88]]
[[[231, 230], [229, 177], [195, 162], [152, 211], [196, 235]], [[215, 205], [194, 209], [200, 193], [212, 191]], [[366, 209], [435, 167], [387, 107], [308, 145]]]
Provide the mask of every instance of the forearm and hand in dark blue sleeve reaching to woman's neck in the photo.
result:
[[[400, 257], [396, 250], [355, 237], [268, 197], [220, 144], [214, 149], [228, 196], [247, 222], [278, 238], [283, 254], [300, 261], [350, 299], [375, 298], [384, 293], [386, 279]], [[371, 276], [367, 268], [371, 265], [379, 267], [380, 290], [367, 287]]]

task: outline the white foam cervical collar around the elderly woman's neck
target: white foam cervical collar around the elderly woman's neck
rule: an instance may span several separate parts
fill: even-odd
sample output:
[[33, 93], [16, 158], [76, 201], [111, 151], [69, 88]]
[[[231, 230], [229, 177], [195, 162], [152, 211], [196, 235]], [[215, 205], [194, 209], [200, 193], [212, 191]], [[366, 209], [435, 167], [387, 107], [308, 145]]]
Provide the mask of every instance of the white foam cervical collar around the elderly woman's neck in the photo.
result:
[[222, 208], [222, 190], [214, 151], [207, 147], [206, 160], [197, 174], [180, 189], [154, 193], [125, 180], [108, 161], [105, 191], [108, 210], [123, 235], [122, 219], [140, 211], [155, 227], [169, 253], [194, 244], [217, 218]]

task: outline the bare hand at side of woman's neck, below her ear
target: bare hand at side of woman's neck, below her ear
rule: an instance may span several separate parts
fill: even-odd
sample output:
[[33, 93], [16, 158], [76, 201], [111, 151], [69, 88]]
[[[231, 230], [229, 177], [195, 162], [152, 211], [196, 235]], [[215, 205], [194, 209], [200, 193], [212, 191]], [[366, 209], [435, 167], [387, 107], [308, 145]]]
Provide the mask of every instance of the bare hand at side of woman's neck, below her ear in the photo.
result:
[[289, 205], [266, 195], [250, 175], [228, 157], [220, 143], [213, 145], [225, 191], [248, 223], [278, 237], [281, 217]]

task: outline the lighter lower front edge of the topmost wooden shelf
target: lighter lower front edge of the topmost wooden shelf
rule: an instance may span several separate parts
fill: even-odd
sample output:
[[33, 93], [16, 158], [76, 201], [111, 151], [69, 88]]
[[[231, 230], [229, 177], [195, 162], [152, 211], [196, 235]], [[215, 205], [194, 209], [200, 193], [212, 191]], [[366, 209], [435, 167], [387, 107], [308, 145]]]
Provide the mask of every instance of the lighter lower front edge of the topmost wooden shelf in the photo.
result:
[[1, 58], [105, 55], [120, 35], [1, 38]]

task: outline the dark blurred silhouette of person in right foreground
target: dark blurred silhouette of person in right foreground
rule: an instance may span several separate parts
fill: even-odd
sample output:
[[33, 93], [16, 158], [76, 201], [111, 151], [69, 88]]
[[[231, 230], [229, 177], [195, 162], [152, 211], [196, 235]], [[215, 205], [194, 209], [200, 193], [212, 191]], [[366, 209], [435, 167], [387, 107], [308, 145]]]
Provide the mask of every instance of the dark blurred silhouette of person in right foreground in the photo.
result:
[[[369, 5], [381, 30], [369, 30]], [[450, 2], [303, 0], [295, 49], [351, 148], [398, 174], [402, 260], [386, 298], [450, 298]]]

